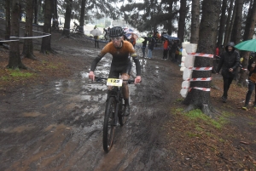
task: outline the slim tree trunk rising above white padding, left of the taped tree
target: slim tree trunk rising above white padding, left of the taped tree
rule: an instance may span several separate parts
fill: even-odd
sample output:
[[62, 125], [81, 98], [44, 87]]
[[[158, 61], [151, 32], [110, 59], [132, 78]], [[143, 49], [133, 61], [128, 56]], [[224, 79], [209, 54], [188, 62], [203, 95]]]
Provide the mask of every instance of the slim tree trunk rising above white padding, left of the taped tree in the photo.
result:
[[198, 43], [200, 23], [200, 0], [192, 0], [190, 43]]

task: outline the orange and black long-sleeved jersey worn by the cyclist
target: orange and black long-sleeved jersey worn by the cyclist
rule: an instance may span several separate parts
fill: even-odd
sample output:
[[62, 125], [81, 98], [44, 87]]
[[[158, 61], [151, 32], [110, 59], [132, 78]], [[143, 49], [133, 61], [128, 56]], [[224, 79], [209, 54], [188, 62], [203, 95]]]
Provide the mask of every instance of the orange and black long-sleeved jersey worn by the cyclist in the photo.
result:
[[130, 75], [131, 58], [129, 54], [131, 54], [136, 65], [137, 76], [141, 75], [141, 66], [137, 58], [137, 54], [132, 44], [128, 41], [122, 41], [122, 47], [120, 48], [115, 48], [113, 46], [113, 42], [108, 43], [104, 48], [102, 48], [102, 51], [97, 55], [96, 59], [93, 60], [90, 71], [95, 71], [97, 63], [102, 60], [103, 56], [107, 53], [112, 54], [113, 56], [110, 73], [113, 71], [119, 71], [121, 74], [127, 73]]

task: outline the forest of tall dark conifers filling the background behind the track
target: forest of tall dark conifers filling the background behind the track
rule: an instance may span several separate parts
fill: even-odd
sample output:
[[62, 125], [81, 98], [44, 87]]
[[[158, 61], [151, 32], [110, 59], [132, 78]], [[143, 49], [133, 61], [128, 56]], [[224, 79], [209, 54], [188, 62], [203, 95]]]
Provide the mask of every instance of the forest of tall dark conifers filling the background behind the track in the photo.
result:
[[[65, 16], [63, 37], [69, 37], [73, 18], [79, 20], [79, 33], [83, 34], [84, 25], [92, 18], [108, 16], [112, 20], [124, 19], [138, 31], [163, 28], [169, 35], [177, 32], [181, 42], [186, 39], [198, 44], [197, 52], [203, 54], [214, 54], [216, 47], [222, 51], [228, 42], [237, 44], [255, 36], [256, 0], [1, 0], [0, 4], [1, 14], [6, 19], [4, 39], [11, 39], [7, 67], [12, 69], [26, 69], [20, 60], [17, 37], [33, 37], [32, 26], [38, 25], [39, 21], [44, 23], [45, 36], [42, 38], [41, 53], [54, 53], [50, 45], [51, 30], [55, 27], [52, 20], [58, 20], [60, 14]], [[25, 35], [19, 33], [22, 16], [26, 16]], [[240, 52], [244, 59], [242, 68], [247, 68], [250, 53]], [[32, 38], [24, 40], [22, 54], [35, 60]], [[212, 61], [201, 58], [197, 65], [212, 66]], [[205, 71], [203, 76], [196, 71], [193, 74], [194, 77], [211, 77], [212, 71]], [[239, 76], [238, 84], [246, 86], [247, 71], [241, 70]], [[210, 88], [210, 82], [196, 82], [195, 87]], [[191, 109], [201, 108], [206, 113], [212, 111], [207, 100], [210, 93], [192, 90], [189, 94], [192, 97], [188, 95], [185, 102], [193, 104]], [[202, 104], [207, 104], [207, 107]]]

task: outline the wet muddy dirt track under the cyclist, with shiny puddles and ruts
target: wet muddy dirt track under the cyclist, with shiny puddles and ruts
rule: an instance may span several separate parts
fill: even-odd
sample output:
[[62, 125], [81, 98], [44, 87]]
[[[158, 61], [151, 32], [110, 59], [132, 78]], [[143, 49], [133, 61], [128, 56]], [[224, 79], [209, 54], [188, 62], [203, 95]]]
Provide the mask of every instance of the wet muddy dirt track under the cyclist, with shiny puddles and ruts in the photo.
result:
[[[84, 71], [70, 79], [19, 89], [1, 100], [0, 170], [170, 170], [162, 159], [174, 154], [161, 147], [161, 123], [179, 95], [168, 87], [181, 79], [172, 73], [178, 66], [160, 57], [141, 60], [143, 83], [129, 85], [131, 115], [116, 128], [107, 154], [102, 149], [106, 86], [87, 78], [93, 59], [87, 58]], [[109, 61], [104, 58], [96, 74], [107, 76]]]

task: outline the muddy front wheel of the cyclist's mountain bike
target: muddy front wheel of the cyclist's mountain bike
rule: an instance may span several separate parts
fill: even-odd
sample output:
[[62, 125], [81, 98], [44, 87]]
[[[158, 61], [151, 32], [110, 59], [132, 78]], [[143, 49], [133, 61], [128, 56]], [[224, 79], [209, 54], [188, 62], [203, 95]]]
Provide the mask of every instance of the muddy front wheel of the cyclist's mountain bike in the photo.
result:
[[103, 149], [108, 152], [113, 146], [113, 132], [114, 132], [114, 110], [115, 110], [115, 100], [113, 97], [108, 99], [104, 125], [103, 125]]

